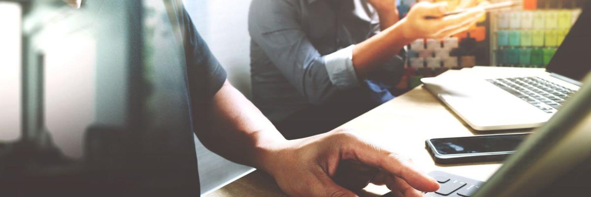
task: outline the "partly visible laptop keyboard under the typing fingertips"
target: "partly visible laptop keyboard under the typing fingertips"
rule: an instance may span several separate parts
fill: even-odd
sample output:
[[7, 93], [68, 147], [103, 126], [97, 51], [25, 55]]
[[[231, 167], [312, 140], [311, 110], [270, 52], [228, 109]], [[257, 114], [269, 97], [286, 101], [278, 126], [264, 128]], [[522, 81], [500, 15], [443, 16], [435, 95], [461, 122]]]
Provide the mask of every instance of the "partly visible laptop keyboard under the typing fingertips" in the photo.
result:
[[[450, 173], [434, 171], [428, 173], [429, 176], [433, 177], [439, 182], [439, 190], [436, 192], [425, 193], [424, 197], [436, 197], [436, 196], [472, 196], [476, 190], [480, 189], [480, 186], [484, 184], [479, 180], [469, 179], [462, 176], [452, 175]], [[393, 197], [392, 193], [386, 193], [382, 197]]]

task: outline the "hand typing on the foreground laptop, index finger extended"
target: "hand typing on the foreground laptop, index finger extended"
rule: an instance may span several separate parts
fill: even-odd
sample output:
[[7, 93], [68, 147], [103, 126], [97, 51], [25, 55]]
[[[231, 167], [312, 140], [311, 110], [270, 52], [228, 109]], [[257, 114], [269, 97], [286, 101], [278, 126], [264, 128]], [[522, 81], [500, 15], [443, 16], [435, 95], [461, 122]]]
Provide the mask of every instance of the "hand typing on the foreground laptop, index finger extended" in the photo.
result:
[[415, 169], [411, 160], [344, 130], [280, 146], [261, 158], [260, 167], [290, 196], [356, 196], [349, 189], [362, 189], [374, 179], [404, 196], [422, 196], [421, 191], [439, 189], [438, 183]]

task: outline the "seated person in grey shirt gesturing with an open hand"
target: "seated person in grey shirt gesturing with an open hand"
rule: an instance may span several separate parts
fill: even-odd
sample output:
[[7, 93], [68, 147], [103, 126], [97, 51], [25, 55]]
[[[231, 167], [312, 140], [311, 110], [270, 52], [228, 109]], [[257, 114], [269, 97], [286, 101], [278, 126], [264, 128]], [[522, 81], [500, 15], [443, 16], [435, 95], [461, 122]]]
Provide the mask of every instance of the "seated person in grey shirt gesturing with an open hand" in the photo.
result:
[[394, 98], [405, 45], [465, 31], [483, 14], [427, 18], [445, 12], [445, 2], [420, 2], [399, 20], [395, 0], [253, 0], [254, 103], [286, 138], [332, 130]]

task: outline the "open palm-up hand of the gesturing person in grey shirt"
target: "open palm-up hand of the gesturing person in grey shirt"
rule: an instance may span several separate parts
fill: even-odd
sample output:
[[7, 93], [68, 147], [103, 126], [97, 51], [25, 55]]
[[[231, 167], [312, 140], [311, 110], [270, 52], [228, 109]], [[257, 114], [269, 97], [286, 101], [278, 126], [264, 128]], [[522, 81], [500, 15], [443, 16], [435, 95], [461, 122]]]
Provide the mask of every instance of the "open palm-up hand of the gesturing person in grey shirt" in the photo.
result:
[[485, 14], [482, 7], [473, 7], [460, 14], [445, 16], [448, 9], [447, 2], [418, 2], [408, 12], [407, 17], [400, 21], [402, 36], [407, 40], [443, 39], [468, 30]]

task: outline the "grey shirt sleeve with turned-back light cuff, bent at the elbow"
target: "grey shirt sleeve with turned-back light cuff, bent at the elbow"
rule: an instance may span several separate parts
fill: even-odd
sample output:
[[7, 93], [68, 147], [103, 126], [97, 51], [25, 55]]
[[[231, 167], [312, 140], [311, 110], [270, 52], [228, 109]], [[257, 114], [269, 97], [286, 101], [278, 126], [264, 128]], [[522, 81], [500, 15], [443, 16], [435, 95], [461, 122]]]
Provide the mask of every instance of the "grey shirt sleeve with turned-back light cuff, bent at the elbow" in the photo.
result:
[[300, 25], [298, 1], [253, 0], [248, 30], [284, 77], [312, 104], [322, 104], [340, 89], [358, 86], [352, 47], [323, 56]]

